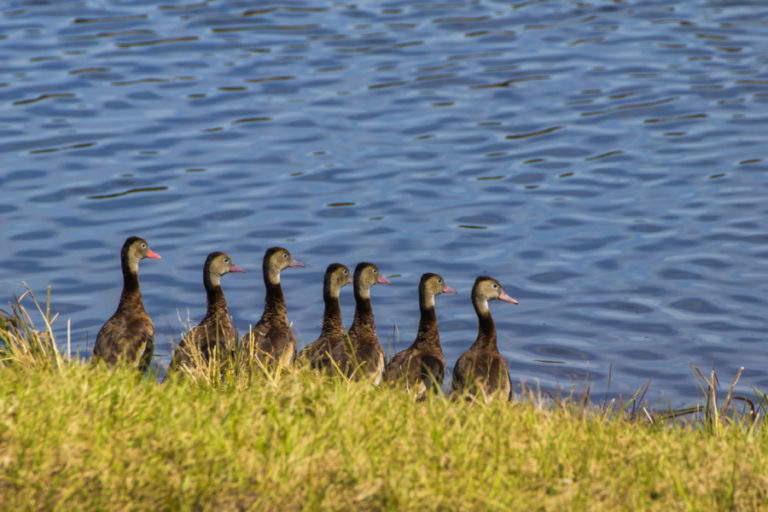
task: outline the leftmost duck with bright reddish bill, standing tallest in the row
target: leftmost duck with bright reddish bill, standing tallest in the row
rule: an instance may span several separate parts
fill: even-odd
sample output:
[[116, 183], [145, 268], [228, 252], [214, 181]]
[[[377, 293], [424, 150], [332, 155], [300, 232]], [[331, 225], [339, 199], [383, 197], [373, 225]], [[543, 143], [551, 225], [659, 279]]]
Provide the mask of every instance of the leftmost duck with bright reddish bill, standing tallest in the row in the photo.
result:
[[123, 291], [115, 313], [96, 335], [93, 360], [110, 366], [124, 362], [144, 373], [155, 348], [155, 326], [144, 309], [139, 286], [139, 261], [161, 259], [143, 238], [130, 236], [120, 250]]

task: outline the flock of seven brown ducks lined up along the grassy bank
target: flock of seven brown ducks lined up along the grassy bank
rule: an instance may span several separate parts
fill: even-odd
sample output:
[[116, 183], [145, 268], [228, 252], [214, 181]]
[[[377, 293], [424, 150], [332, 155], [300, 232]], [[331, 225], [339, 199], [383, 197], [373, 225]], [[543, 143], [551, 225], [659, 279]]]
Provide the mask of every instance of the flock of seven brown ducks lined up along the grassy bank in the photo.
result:
[[[141, 372], [149, 368], [154, 350], [155, 330], [144, 309], [139, 287], [139, 261], [160, 259], [143, 238], [129, 237], [123, 244], [120, 260], [123, 291], [117, 311], [99, 330], [93, 359], [108, 365], [129, 364]], [[238, 340], [227, 310], [221, 277], [230, 272], [245, 272], [227, 254], [212, 252], [203, 267], [203, 284], [208, 309], [203, 320], [192, 328], [174, 350], [169, 372], [200, 362], [206, 364], [216, 354], [237, 354], [238, 363], [247, 368], [291, 366], [297, 360], [319, 370], [339, 371], [347, 377], [367, 375], [375, 384], [382, 380], [403, 385], [421, 395], [440, 389], [445, 374], [445, 356], [435, 314], [435, 297], [456, 293], [438, 274], [426, 273], [419, 282], [421, 319], [413, 344], [385, 364], [384, 349], [376, 337], [371, 288], [390, 284], [379, 268], [370, 262], [358, 263], [354, 274], [341, 263], [332, 263], [323, 279], [323, 324], [317, 340], [297, 354], [296, 338], [288, 323], [280, 272], [304, 264], [282, 247], [272, 247], [264, 254], [262, 272], [266, 286], [264, 313], [259, 322]], [[344, 329], [339, 293], [353, 284], [355, 317], [349, 330]], [[512, 386], [504, 357], [496, 345], [496, 327], [488, 301], [517, 304], [494, 278], [480, 276], [472, 287], [472, 305], [478, 318], [475, 342], [461, 354], [454, 365], [452, 389], [490, 397], [511, 397]]]

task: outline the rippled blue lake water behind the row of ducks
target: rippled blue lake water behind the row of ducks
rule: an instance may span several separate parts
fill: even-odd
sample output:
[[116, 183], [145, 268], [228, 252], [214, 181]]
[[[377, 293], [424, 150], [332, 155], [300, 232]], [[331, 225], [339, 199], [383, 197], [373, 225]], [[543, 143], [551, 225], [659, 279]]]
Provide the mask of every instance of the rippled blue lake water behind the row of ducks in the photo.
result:
[[[768, 390], [768, 4], [13, 1], [0, 15], [0, 290], [52, 288], [90, 355], [146, 238], [165, 367], [205, 312], [202, 265], [245, 331], [281, 245], [299, 345], [322, 275], [376, 262], [379, 337], [401, 350], [438, 272], [452, 367], [491, 303], [515, 382], [654, 403], [690, 365]], [[342, 291], [347, 325], [352, 290]], [[449, 377], [446, 378], [446, 382]], [[610, 385], [609, 385], [610, 384]]]

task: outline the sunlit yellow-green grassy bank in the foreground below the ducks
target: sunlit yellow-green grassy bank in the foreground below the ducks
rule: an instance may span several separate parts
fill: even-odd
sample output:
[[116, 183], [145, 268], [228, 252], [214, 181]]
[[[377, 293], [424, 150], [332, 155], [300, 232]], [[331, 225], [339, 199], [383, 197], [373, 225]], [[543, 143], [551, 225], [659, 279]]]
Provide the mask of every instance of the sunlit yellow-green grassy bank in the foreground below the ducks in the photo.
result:
[[14, 359], [5, 325], [3, 510], [768, 506], [768, 428], [732, 409], [650, 423], [533, 393], [415, 402], [304, 368], [160, 384], [125, 368]]

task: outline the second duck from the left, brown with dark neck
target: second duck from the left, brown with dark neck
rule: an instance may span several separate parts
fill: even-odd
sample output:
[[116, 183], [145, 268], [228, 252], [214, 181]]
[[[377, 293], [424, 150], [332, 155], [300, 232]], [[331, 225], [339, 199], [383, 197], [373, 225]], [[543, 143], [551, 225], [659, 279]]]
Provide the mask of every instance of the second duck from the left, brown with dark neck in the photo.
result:
[[197, 358], [207, 364], [214, 349], [220, 358], [234, 351], [237, 334], [229, 316], [224, 290], [221, 288], [221, 277], [230, 272], [245, 273], [245, 270], [235, 265], [232, 258], [223, 252], [212, 252], [205, 259], [203, 286], [208, 309], [203, 320], [193, 327], [176, 347], [171, 359], [172, 370], [189, 365]]

